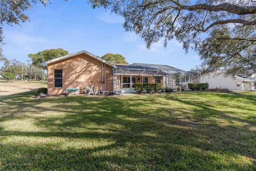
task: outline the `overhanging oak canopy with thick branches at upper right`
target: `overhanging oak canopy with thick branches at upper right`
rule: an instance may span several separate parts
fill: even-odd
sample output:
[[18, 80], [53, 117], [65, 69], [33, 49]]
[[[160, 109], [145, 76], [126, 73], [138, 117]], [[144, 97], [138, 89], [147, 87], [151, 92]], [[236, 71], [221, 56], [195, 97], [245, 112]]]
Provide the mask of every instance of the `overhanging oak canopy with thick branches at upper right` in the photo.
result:
[[255, 0], [89, 0], [123, 16], [126, 31], [138, 34], [146, 47], [174, 38], [188, 52], [198, 52], [205, 71], [225, 68], [229, 74], [256, 72]]

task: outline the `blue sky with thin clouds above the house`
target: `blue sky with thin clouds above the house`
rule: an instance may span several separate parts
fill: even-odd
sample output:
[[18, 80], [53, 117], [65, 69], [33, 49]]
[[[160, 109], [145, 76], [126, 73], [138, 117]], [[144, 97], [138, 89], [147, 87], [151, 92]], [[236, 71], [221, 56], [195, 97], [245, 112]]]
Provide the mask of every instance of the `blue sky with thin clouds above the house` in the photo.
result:
[[[188, 54], [176, 40], [164, 48], [164, 41], [146, 49], [145, 42], [133, 32], [125, 32], [124, 19], [102, 8], [92, 9], [86, 0], [52, 0], [52, 4], [26, 12], [30, 22], [4, 26], [3, 54], [8, 60], [28, 63], [28, 54], [63, 48], [69, 53], [86, 50], [96, 56], [121, 54], [129, 64], [163, 64], [190, 70], [199, 65], [199, 56]], [[2, 64], [0, 64], [2, 65]]]

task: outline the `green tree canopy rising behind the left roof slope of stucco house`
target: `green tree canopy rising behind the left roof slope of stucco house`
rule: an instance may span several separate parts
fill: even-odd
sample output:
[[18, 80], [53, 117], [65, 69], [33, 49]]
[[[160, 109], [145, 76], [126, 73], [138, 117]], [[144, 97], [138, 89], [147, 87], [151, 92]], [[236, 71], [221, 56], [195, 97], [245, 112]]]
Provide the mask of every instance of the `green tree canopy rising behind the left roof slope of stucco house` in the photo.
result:
[[46, 62], [48, 60], [52, 60], [55, 58], [59, 58], [62, 56], [68, 55], [67, 50], [63, 50], [62, 48], [58, 49], [47, 49], [37, 54], [28, 54], [28, 57], [31, 58], [32, 65], [41, 68], [40, 63]]

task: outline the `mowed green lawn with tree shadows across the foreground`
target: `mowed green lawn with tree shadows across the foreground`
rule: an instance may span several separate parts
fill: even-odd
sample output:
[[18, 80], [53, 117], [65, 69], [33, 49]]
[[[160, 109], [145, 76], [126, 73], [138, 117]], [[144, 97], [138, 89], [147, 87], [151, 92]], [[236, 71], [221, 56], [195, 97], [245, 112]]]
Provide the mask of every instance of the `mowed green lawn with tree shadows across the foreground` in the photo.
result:
[[0, 170], [256, 170], [256, 92], [0, 98]]

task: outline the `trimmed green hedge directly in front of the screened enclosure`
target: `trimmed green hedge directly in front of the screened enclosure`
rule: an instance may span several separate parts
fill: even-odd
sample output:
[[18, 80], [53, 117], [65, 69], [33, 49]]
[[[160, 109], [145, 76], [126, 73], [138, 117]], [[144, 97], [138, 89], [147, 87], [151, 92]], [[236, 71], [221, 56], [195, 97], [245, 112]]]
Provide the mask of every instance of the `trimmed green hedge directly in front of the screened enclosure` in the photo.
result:
[[142, 91], [146, 90], [148, 93], [150, 91], [160, 91], [162, 88], [162, 84], [160, 83], [136, 83], [134, 84], [134, 90], [138, 93], [142, 93]]

